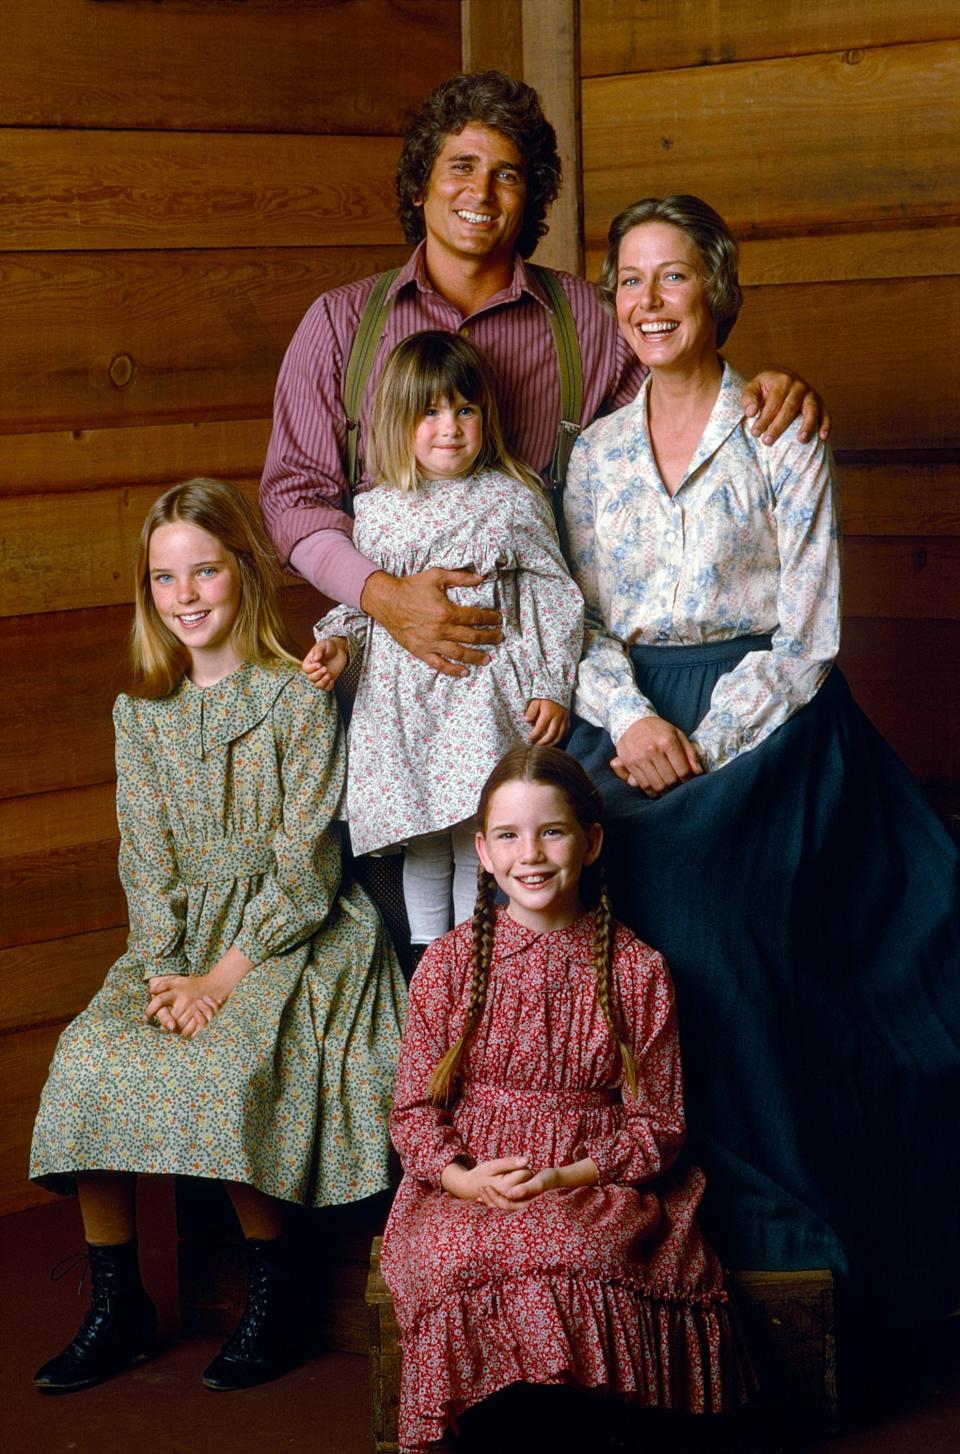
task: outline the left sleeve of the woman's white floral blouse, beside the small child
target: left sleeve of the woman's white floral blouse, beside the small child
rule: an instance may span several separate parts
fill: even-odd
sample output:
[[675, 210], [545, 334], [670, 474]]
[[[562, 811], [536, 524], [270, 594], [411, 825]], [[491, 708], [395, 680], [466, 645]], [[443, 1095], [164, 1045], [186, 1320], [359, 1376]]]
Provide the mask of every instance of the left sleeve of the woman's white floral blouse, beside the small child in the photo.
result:
[[617, 743], [627, 727], [641, 717], [656, 717], [657, 712], [637, 688], [625, 646], [607, 627], [605, 602], [609, 603], [617, 582], [605, 580], [599, 567], [596, 467], [591, 441], [577, 439], [563, 496], [573, 579], [586, 602], [583, 656], [573, 705], [586, 721], [605, 727]]

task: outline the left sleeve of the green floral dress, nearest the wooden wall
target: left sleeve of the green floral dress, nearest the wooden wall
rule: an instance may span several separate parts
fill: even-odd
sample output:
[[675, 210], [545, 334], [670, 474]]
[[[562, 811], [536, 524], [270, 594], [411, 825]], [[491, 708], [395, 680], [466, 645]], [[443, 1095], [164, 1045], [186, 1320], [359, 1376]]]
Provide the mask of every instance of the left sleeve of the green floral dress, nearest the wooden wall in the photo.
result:
[[183, 952], [186, 888], [180, 883], [151, 728], [129, 696], [113, 705], [119, 877], [129, 916], [128, 951], [154, 974], [189, 974]]

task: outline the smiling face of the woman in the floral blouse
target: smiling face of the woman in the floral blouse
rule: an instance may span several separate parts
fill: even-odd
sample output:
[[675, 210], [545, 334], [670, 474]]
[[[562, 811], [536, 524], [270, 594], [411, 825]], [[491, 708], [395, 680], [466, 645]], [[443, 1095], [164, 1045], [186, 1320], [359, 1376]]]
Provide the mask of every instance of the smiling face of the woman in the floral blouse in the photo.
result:
[[617, 323], [641, 364], [688, 369], [717, 352], [703, 262], [672, 222], [640, 222], [620, 243]]

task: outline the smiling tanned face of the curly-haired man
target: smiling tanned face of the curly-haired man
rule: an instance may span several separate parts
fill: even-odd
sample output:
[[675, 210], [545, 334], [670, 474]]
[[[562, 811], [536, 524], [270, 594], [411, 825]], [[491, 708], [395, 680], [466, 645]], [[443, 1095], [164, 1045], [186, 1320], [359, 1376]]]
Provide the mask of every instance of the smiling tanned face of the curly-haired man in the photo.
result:
[[527, 205], [524, 163], [499, 131], [470, 122], [445, 138], [417, 201], [428, 263], [438, 252], [512, 262]]

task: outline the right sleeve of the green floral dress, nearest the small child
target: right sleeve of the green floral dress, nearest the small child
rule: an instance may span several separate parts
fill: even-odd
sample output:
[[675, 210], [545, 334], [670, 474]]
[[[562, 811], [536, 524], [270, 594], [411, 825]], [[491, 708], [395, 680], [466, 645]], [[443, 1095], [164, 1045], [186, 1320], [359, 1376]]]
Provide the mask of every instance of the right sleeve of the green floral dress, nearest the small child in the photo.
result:
[[336, 702], [305, 676], [291, 676], [272, 712], [284, 794], [272, 840], [276, 871], [247, 903], [234, 939], [255, 964], [316, 933], [340, 883], [332, 822], [343, 792], [345, 750]]

